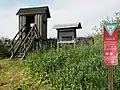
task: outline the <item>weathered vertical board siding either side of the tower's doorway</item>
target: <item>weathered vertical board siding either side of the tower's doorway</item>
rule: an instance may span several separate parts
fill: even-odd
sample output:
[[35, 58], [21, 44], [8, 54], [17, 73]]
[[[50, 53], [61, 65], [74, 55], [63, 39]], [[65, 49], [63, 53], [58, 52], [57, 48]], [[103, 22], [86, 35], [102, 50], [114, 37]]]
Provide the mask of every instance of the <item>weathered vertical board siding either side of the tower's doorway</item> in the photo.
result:
[[[40, 37], [42, 39], [47, 39], [47, 15], [46, 14], [36, 14], [34, 16], [35, 24], [37, 25]], [[26, 24], [26, 16], [19, 16], [19, 30]], [[25, 29], [25, 28], [24, 28]], [[24, 30], [23, 29], [23, 30]], [[25, 33], [21, 33], [25, 36]]]

